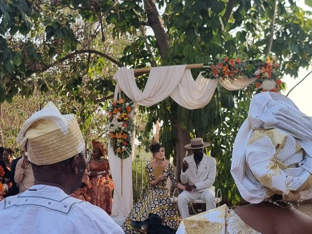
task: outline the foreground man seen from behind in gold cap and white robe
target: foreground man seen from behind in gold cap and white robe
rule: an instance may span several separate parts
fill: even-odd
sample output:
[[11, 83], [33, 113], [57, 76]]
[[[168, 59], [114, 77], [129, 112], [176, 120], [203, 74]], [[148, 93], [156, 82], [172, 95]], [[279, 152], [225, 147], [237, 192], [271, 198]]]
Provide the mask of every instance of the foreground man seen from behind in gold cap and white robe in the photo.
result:
[[28, 152], [35, 185], [0, 202], [1, 233], [123, 233], [105, 211], [69, 196], [91, 158], [75, 115], [49, 102], [25, 121], [17, 143]]

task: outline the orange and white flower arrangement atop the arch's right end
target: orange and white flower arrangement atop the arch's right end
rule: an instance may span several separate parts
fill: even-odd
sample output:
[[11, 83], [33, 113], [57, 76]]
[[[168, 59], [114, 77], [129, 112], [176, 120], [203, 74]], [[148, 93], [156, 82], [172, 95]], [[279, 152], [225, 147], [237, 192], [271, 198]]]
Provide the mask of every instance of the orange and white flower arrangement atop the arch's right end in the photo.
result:
[[284, 83], [279, 78], [279, 64], [275, 59], [266, 60], [246, 60], [240, 58], [224, 58], [217, 62], [208, 64], [203, 76], [206, 78], [221, 78], [231, 80], [239, 78], [256, 78], [257, 92], [279, 92]]

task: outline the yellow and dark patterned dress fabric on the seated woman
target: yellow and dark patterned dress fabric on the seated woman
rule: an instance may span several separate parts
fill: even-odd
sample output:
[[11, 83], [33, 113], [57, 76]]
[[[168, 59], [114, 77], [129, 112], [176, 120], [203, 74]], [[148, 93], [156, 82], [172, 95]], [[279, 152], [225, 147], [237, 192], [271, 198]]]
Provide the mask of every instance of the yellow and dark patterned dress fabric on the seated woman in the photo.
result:
[[[145, 167], [149, 183], [156, 179], [154, 176], [154, 169], [147, 164]], [[142, 233], [138, 228], [132, 225], [132, 222], [144, 222], [148, 220], [149, 215], [154, 214], [161, 218], [161, 225], [175, 230], [180, 223], [178, 211], [170, 197], [168, 188], [166, 187], [167, 178], [171, 179], [172, 184], [176, 185], [177, 180], [174, 174], [173, 166], [168, 164], [163, 172], [164, 180], [159, 182], [156, 186], [151, 186], [146, 195], [133, 207], [124, 224], [121, 226], [126, 234], [140, 234]]]

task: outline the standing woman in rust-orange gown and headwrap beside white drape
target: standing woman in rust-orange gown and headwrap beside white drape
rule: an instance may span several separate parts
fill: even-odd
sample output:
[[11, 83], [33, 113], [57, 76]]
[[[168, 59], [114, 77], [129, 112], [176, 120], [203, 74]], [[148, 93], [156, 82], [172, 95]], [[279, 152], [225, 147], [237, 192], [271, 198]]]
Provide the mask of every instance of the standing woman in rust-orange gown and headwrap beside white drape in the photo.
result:
[[88, 163], [87, 170], [90, 177], [91, 188], [88, 194], [91, 197], [91, 203], [102, 208], [108, 215], [112, 213], [113, 197], [112, 191], [114, 189], [111, 171], [106, 159], [103, 144], [93, 140], [93, 157]]

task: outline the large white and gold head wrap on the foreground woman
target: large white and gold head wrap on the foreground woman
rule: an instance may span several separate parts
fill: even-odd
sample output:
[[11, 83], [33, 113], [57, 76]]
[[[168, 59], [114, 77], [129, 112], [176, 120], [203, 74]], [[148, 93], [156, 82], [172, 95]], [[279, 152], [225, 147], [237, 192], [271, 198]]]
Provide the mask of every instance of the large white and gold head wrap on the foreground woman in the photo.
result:
[[259, 203], [312, 197], [312, 118], [289, 98], [254, 96], [234, 141], [231, 174], [241, 196]]

